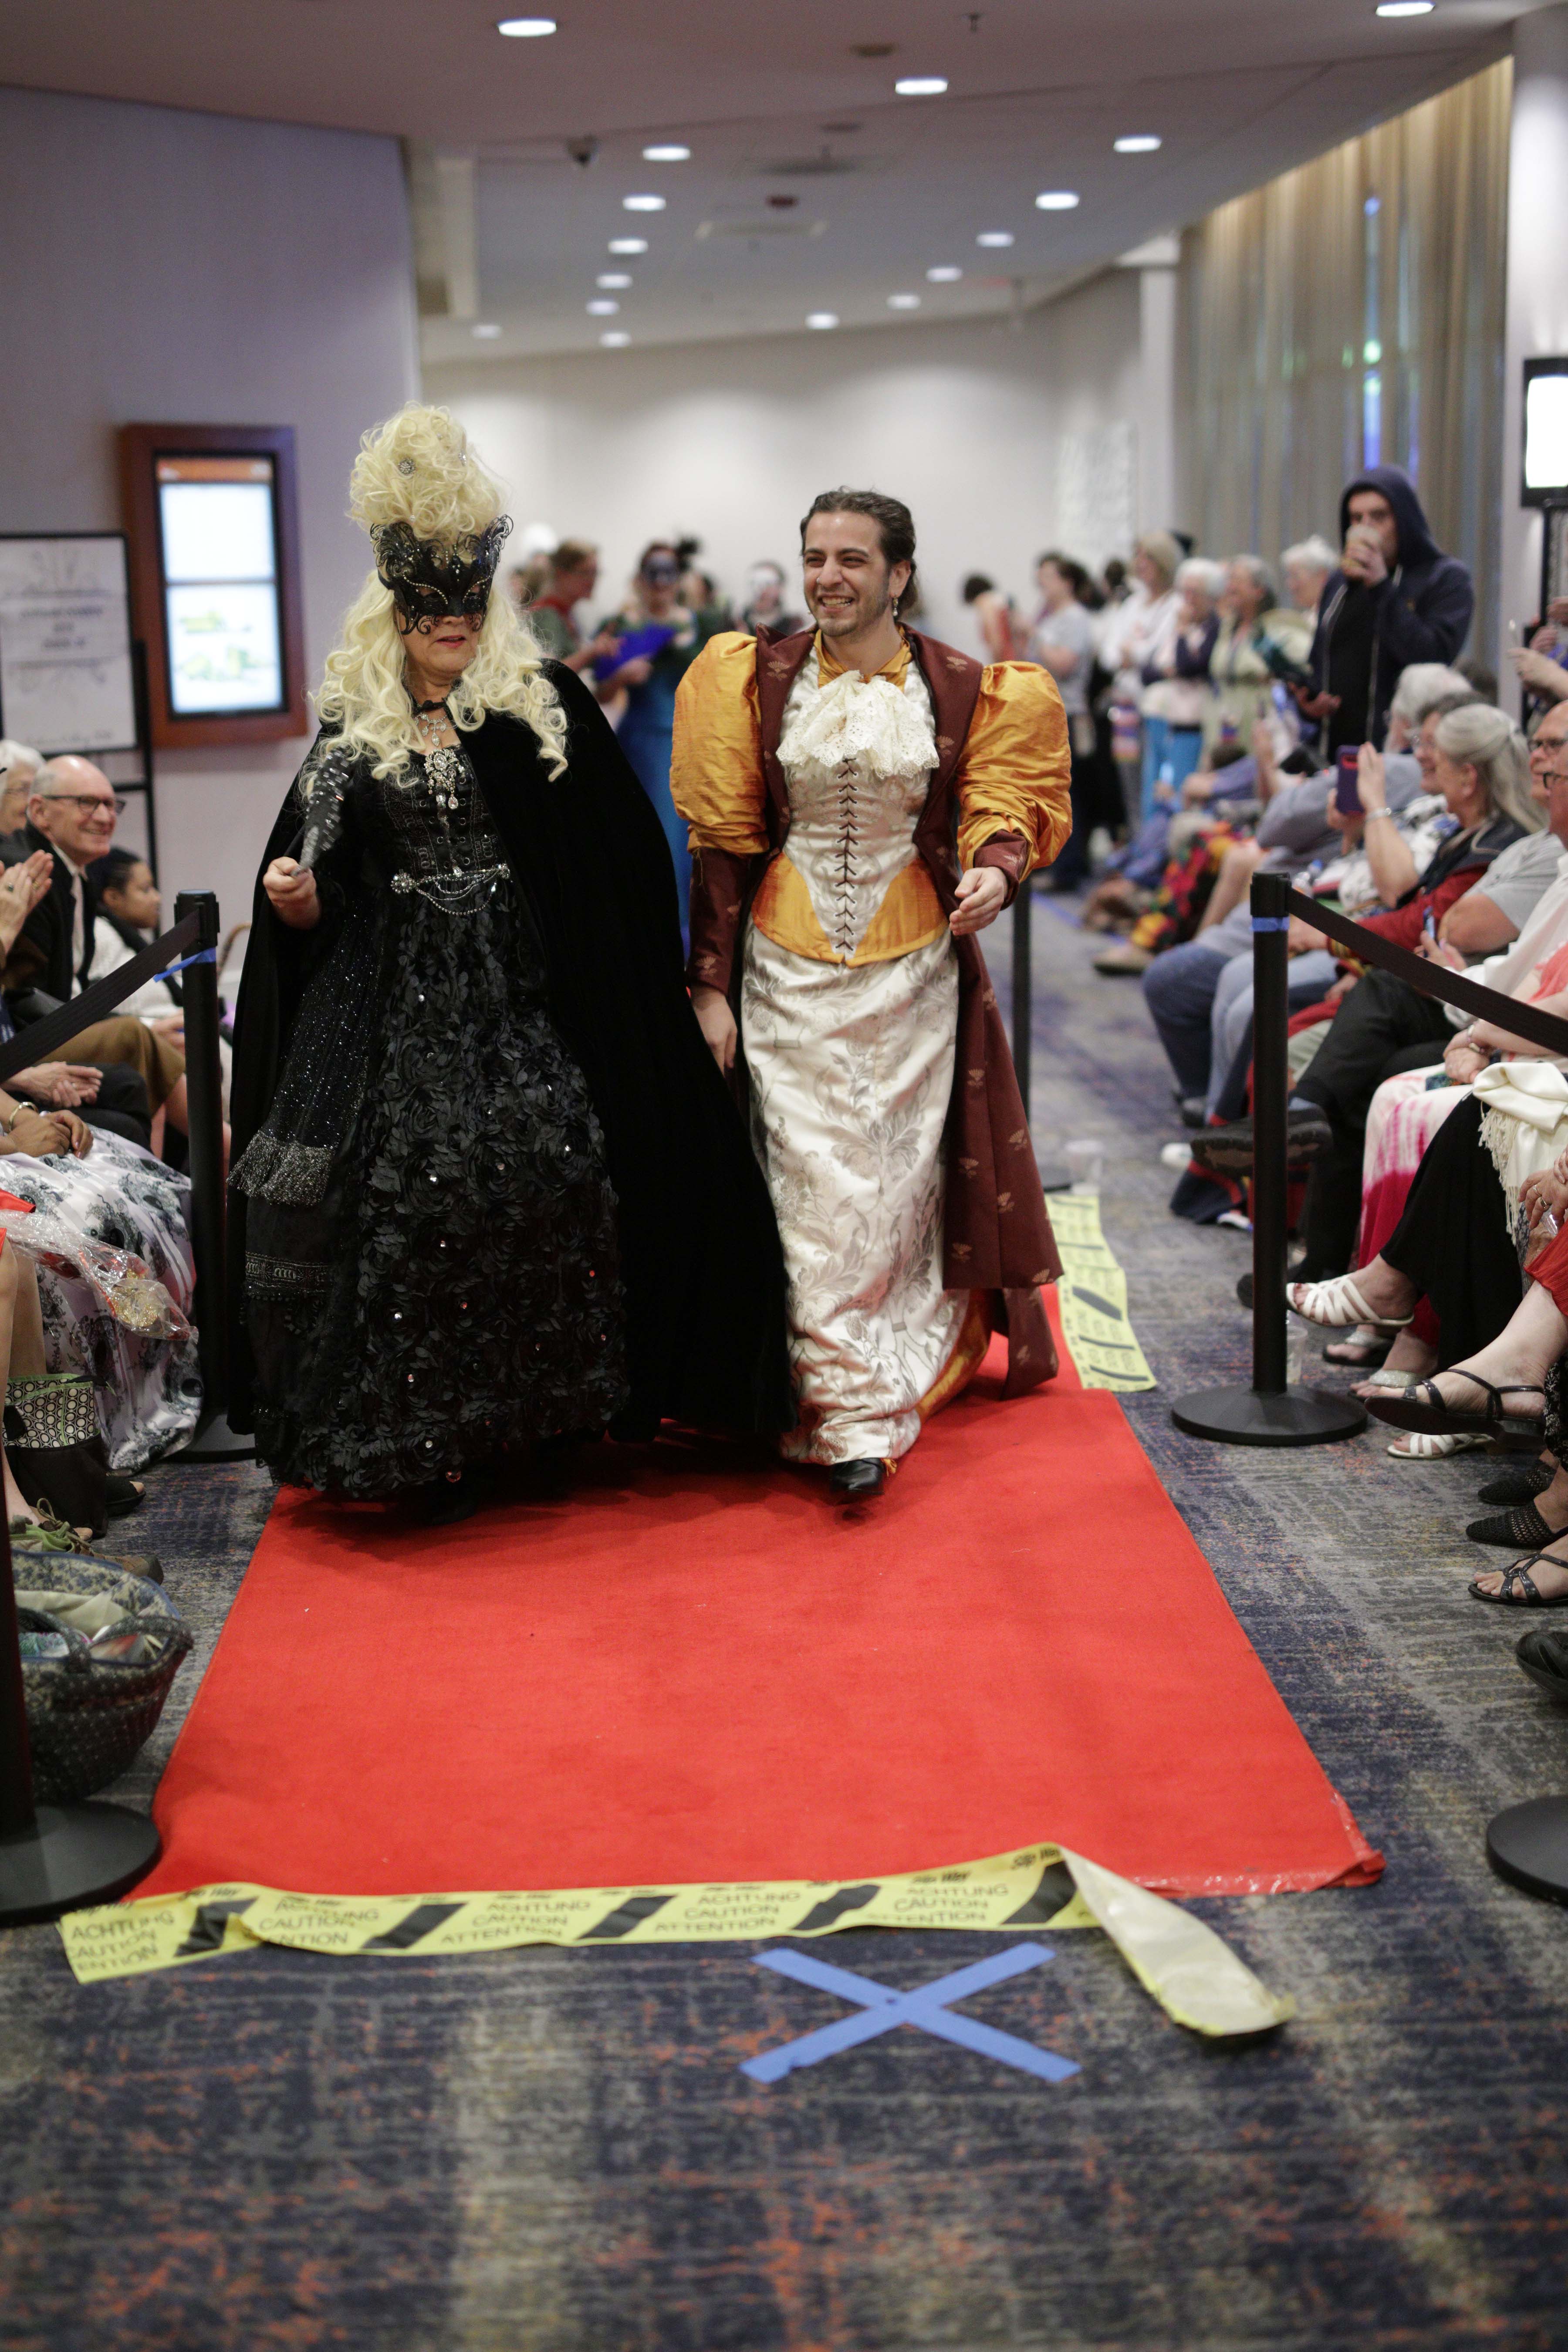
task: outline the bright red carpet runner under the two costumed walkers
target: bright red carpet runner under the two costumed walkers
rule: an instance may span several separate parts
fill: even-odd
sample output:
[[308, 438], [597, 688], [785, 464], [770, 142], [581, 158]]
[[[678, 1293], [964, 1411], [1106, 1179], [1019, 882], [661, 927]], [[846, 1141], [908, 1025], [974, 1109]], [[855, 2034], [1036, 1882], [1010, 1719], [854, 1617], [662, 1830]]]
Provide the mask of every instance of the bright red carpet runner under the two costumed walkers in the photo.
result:
[[860, 1517], [696, 1442], [595, 1449], [447, 1534], [287, 1491], [158, 1823], [139, 1893], [835, 1879], [1037, 1839], [1166, 1893], [1380, 1867], [1070, 1369], [950, 1406]]

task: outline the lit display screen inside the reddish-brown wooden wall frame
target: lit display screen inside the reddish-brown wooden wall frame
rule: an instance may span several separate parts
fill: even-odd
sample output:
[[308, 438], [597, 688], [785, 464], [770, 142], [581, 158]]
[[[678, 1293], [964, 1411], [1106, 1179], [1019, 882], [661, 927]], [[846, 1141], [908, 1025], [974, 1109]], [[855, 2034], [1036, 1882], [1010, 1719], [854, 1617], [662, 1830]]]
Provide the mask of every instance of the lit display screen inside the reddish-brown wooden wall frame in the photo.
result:
[[270, 456], [160, 456], [172, 717], [282, 710], [277, 480]]

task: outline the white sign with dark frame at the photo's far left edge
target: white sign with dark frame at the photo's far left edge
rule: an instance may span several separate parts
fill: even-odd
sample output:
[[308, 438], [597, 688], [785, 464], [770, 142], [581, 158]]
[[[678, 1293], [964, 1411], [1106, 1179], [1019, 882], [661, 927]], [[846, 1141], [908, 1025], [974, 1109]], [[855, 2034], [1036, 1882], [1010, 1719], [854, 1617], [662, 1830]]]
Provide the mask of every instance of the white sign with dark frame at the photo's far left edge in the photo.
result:
[[122, 532], [0, 536], [0, 734], [61, 750], [139, 750]]

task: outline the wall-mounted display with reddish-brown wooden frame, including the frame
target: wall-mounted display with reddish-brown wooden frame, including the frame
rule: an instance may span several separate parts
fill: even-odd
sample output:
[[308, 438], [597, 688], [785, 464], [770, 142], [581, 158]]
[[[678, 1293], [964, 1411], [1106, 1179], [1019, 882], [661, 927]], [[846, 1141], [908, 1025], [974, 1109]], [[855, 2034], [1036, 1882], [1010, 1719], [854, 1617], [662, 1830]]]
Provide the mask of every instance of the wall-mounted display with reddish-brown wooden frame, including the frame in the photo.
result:
[[292, 426], [122, 426], [120, 475], [153, 743], [303, 734]]

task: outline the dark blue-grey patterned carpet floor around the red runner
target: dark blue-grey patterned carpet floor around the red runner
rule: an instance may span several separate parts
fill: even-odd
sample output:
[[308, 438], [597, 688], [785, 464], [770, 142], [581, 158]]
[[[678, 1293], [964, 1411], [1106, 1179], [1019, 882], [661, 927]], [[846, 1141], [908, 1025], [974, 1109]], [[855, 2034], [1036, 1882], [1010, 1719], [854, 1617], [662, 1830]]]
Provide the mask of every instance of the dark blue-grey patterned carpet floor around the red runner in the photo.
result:
[[[1041, 1162], [1105, 1141], [1161, 1383], [1128, 1418], [1387, 1853], [1373, 1889], [1199, 1905], [1298, 2020], [1201, 2044], [1074, 1936], [976, 2006], [1070, 2082], [898, 2032], [759, 2089], [738, 2058], [837, 2011], [743, 1945], [268, 1950], [85, 1990], [26, 1929], [0, 1943], [7, 2352], [1568, 2345], [1568, 1912], [1483, 1858], [1490, 1811], [1568, 1788], [1568, 1715], [1519, 1675], [1516, 1621], [1465, 1595], [1483, 1472], [1396, 1465], [1375, 1435], [1253, 1454], [1171, 1428], [1171, 1395], [1246, 1378], [1248, 1244], [1166, 1216], [1178, 1129], [1138, 985], [1095, 978], [1048, 901], [1034, 931]], [[155, 1785], [268, 1501], [252, 1468], [155, 1472], [136, 1538], [200, 1644], [115, 1795]], [[1128, 1675], [1180, 1639], [1150, 1609]], [[433, 1672], [440, 1642], [433, 1595]], [[1018, 1672], [1048, 1686], [1048, 1661]], [[914, 1987], [1013, 1940], [816, 1952]]]

